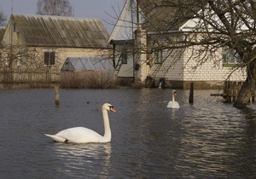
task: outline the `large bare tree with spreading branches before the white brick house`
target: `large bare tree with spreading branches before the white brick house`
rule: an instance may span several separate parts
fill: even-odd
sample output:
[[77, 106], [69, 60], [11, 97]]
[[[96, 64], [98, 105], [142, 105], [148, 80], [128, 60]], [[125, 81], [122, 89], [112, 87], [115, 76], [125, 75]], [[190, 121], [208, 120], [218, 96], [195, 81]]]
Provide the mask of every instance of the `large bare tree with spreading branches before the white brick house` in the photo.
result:
[[[245, 68], [247, 71], [247, 79], [242, 85], [234, 107], [247, 106], [256, 89], [254, 0], [140, 0], [140, 3], [145, 20], [143, 26], [159, 32], [151, 51], [155, 48], [193, 49], [193, 60], [200, 66], [210, 59], [208, 56], [215, 58], [215, 63], [220, 63], [222, 59], [218, 59], [216, 53], [221, 48], [234, 50], [234, 55], [240, 59], [236, 69]], [[157, 16], [160, 12], [168, 13], [161, 13], [166, 15], [165, 17]], [[166, 35], [168, 32], [178, 30], [187, 20], [195, 21], [195, 26], [190, 32], [177, 31], [175, 39], [174, 36]]]

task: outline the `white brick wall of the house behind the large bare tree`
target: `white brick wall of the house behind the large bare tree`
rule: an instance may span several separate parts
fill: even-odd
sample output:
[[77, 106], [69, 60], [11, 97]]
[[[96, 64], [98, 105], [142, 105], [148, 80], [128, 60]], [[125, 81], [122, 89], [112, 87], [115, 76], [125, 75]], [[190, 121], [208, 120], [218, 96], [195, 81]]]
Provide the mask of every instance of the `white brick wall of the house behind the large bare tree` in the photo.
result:
[[[230, 73], [230, 80], [242, 81], [246, 78], [246, 72], [243, 69], [233, 72], [233, 68], [224, 67], [222, 64], [222, 55], [219, 52], [214, 58], [206, 56], [200, 66], [195, 58], [191, 56], [191, 49], [180, 52], [164, 50], [164, 55], [169, 55], [162, 64], [154, 64], [150, 69], [150, 75], [154, 78], [166, 78], [174, 81], [224, 81]], [[172, 53], [170, 55], [170, 53]], [[204, 59], [206, 60], [206, 59]], [[218, 61], [218, 63], [216, 63]], [[195, 68], [195, 66], [197, 66]]]

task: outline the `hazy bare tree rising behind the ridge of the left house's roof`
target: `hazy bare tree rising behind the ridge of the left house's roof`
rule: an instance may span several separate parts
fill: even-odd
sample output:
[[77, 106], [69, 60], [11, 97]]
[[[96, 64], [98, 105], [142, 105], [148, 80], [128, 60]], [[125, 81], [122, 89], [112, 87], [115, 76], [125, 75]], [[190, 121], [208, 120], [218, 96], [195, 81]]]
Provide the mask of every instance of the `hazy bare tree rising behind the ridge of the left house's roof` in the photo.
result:
[[38, 0], [37, 14], [72, 16], [73, 9], [68, 0]]

